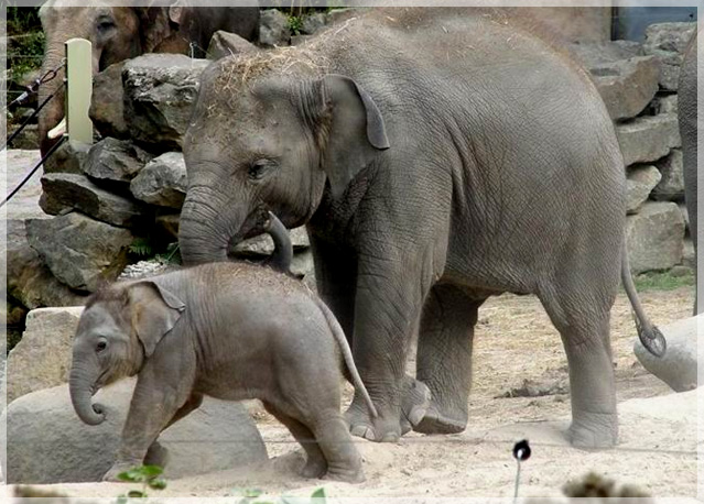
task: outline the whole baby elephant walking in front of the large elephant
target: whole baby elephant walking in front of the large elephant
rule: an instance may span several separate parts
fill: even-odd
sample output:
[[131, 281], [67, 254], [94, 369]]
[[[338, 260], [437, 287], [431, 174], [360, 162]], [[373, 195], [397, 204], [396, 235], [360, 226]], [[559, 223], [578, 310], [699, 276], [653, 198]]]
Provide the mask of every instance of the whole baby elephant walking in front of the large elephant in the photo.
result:
[[258, 398], [301, 442], [306, 478], [359, 482], [361, 458], [339, 410], [340, 353], [373, 404], [332, 311], [302, 283], [270, 269], [218, 263], [113, 284], [86, 304], [74, 341], [71, 397], [87, 424], [100, 387], [138, 375], [112, 468], [164, 464], [159, 434], [204, 395]]

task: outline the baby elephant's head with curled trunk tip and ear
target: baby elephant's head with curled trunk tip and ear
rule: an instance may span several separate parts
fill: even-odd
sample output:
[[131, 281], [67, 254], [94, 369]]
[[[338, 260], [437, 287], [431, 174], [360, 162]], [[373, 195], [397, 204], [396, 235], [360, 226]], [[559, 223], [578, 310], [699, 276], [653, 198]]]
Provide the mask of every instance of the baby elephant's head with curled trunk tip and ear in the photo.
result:
[[91, 404], [93, 394], [137, 374], [184, 309], [158, 280], [116, 284], [94, 294], [78, 321], [69, 375], [71, 399], [83, 421], [105, 420], [102, 406]]

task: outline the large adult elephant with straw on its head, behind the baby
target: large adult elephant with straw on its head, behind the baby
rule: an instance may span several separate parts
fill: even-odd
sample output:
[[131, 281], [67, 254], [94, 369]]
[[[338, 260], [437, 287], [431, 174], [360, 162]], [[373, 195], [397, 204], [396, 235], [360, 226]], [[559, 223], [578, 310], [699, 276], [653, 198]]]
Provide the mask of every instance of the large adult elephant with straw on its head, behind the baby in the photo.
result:
[[538, 295], [562, 335], [572, 442], [617, 441], [624, 162], [589, 76], [543, 40], [501, 12], [375, 9], [214, 63], [184, 153], [187, 263], [225, 260], [268, 209], [307, 223], [318, 289], [379, 412], [356, 396], [353, 434], [463, 430], [477, 310], [511, 292]]

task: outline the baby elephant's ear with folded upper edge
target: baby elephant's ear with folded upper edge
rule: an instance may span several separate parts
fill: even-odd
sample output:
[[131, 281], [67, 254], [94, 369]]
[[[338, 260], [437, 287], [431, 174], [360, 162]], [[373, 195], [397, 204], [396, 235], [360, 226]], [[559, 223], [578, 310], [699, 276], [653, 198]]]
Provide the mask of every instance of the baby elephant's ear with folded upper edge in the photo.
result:
[[174, 328], [186, 305], [156, 282], [138, 282], [129, 287], [132, 329], [149, 358], [161, 339]]

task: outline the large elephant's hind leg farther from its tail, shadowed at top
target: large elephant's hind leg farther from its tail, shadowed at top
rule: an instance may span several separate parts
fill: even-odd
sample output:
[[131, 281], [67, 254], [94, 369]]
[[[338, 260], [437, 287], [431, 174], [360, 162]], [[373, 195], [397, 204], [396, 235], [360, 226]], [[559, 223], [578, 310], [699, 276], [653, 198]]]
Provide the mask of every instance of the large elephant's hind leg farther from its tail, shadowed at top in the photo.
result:
[[421, 318], [416, 375], [430, 387], [432, 401], [414, 430], [455, 434], [466, 428], [472, 340], [481, 303], [452, 285], [435, 285], [431, 291]]

